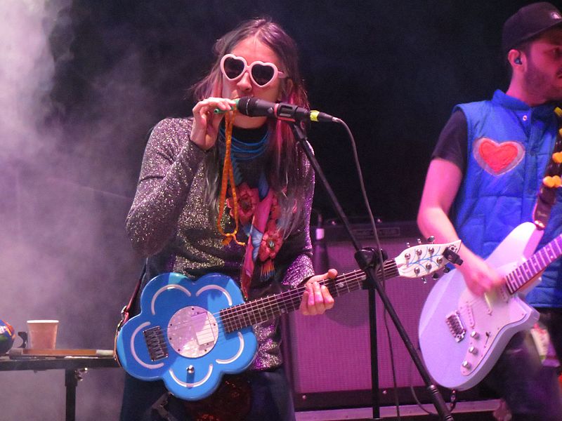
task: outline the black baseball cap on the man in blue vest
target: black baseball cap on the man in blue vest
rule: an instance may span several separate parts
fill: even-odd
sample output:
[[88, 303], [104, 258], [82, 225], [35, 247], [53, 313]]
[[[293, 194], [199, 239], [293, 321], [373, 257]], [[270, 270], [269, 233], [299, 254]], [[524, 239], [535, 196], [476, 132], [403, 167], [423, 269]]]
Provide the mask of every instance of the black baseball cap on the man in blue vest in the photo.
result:
[[507, 54], [511, 48], [561, 24], [562, 13], [546, 1], [524, 6], [504, 23], [502, 51]]

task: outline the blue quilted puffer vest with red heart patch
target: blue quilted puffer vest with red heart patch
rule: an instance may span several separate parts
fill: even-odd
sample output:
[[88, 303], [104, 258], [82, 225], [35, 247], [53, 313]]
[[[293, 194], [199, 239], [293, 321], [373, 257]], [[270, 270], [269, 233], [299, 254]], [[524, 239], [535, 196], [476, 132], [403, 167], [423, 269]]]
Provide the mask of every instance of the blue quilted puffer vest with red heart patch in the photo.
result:
[[[521, 222], [532, 221], [537, 192], [556, 140], [554, 107], [528, 107], [496, 91], [490, 101], [462, 109], [468, 125], [466, 174], [452, 206], [452, 221], [467, 247], [487, 258]], [[540, 246], [562, 229], [562, 192]], [[514, 256], [514, 260], [517, 256]], [[527, 295], [537, 307], [562, 307], [561, 260]]]

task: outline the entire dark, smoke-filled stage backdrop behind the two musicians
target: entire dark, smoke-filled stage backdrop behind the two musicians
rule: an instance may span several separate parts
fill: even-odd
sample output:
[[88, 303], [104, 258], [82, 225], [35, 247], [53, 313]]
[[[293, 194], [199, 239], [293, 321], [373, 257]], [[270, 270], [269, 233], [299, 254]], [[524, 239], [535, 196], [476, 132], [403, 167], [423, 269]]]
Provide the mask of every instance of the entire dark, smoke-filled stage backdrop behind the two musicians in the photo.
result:
[[[58, 347], [112, 347], [141, 269], [124, 219], [148, 132], [190, 114], [189, 86], [240, 20], [270, 15], [294, 37], [312, 107], [348, 123], [374, 214], [398, 222], [415, 219], [452, 107], [507, 88], [501, 26], [527, 3], [1, 1], [0, 319], [59, 319]], [[344, 210], [364, 220], [343, 128], [308, 134]], [[334, 217], [321, 187], [314, 207]], [[86, 375], [78, 419], [117, 419], [122, 376]], [[2, 420], [60, 420], [63, 403], [62, 372], [0, 373]]]

